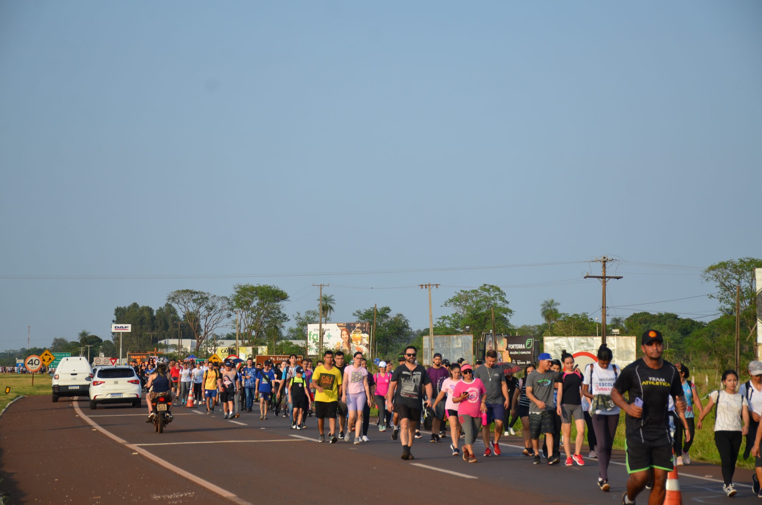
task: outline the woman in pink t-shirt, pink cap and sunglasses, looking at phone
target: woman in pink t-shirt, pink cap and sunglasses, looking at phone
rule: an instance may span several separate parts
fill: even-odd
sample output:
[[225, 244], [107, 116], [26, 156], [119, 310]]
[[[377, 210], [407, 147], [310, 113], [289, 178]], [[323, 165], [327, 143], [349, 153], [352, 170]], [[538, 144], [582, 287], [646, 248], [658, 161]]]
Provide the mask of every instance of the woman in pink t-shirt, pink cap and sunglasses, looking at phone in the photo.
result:
[[463, 426], [463, 433], [466, 434], [466, 440], [463, 441], [463, 461], [475, 463], [473, 443], [482, 431], [482, 412], [487, 411], [487, 390], [481, 379], [474, 378], [471, 365], [463, 364], [460, 373], [463, 379], [455, 385], [453, 403], [458, 405], [458, 420], [460, 426]]

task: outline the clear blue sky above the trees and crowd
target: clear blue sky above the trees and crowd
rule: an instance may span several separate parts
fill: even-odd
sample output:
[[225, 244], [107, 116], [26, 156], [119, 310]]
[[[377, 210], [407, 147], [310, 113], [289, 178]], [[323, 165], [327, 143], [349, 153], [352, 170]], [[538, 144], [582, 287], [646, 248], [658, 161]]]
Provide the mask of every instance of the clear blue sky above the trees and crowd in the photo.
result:
[[[0, 3], [0, 275], [347, 272], [762, 255], [762, 2]], [[267, 282], [428, 324], [587, 263], [281, 278], [0, 278], [0, 349]], [[610, 304], [713, 291], [623, 264]], [[657, 275], [652, 275], [657, 274]], [[305, 289], [306, 288], [306, 289]], [[299, 291], [302, 290], [302, 291]], [[505, 288], [600, 308], [600, 285]], [[316, 291], [316, 290], [315, 290]], [[712, 314], [706, 298], [644, 308]], [[616, 310], [612, 310], [616, 314]], [[626, 315], [631, 311], [620, 310]]]

